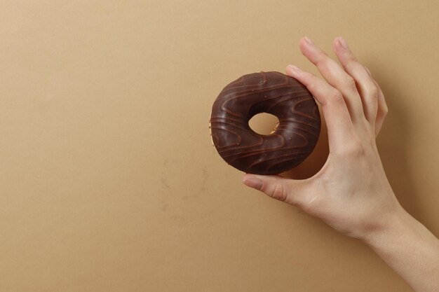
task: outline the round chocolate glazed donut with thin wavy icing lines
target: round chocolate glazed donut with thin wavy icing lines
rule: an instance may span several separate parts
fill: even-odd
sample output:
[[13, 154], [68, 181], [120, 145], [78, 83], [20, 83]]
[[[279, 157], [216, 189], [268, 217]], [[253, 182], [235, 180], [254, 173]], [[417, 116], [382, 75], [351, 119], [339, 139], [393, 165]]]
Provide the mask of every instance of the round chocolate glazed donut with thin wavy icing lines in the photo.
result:
[[[279, 120], [269, 135], [248, 121], [257, 113]], [[320, 134], [320, 113], [311, 92], [279, 72], [247, 74], [219, 93], [210, 116], [212, 143], [229, 165], [252, 174], [279, 174], [311, 154]]]

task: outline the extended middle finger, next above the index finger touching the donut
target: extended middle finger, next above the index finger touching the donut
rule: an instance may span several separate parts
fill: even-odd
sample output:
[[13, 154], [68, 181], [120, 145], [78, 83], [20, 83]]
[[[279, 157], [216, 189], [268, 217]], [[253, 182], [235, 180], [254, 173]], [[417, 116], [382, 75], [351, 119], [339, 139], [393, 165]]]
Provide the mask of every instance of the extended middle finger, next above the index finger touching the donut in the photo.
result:
[[299, 47], [302, 54], [316, 65], [327, 83], [342, 92], [352, 122], [355, 124], [358, 120], [363, 119], [363, 104], [353, 77], [306, 36], [300, 40]]

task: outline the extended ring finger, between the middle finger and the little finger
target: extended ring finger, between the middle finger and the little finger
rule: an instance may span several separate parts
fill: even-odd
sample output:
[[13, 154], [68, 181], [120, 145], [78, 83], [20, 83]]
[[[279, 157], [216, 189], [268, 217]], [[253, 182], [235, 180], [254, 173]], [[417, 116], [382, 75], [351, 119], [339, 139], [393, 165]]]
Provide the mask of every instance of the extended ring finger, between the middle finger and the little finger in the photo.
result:
[[341, 36], [334, 39], [332, 46], [340, 64], [355, 81], [363, 103], [365, 118], [374, 127], [378, 109], [377, 85], [375, 85], [365, 67], [357, 61], [351, 50], [349, 50], [346, 41]]

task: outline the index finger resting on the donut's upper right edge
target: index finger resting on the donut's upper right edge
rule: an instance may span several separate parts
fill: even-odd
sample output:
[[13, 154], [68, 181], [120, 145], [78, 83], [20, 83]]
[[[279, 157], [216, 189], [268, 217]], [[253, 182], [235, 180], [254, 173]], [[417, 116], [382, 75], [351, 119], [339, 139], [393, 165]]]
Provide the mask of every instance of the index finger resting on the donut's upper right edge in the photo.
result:
[[346, 145], [351, 140], [354, 129], [342, 93], [317, 76], [295, 66], [288, 66], [286, 71], [305, 85], [322, 105], [330, 150], [337, 151], [337, 147]]

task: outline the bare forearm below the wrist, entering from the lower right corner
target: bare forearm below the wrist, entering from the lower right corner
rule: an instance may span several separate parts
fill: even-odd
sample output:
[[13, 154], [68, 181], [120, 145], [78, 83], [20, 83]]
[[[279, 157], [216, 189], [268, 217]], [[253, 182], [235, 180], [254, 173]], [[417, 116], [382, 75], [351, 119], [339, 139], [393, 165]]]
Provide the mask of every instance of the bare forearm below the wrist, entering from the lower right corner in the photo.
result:
[[364, 241], [415, 291], [439, 291], [439, 239], [405, 210]]

